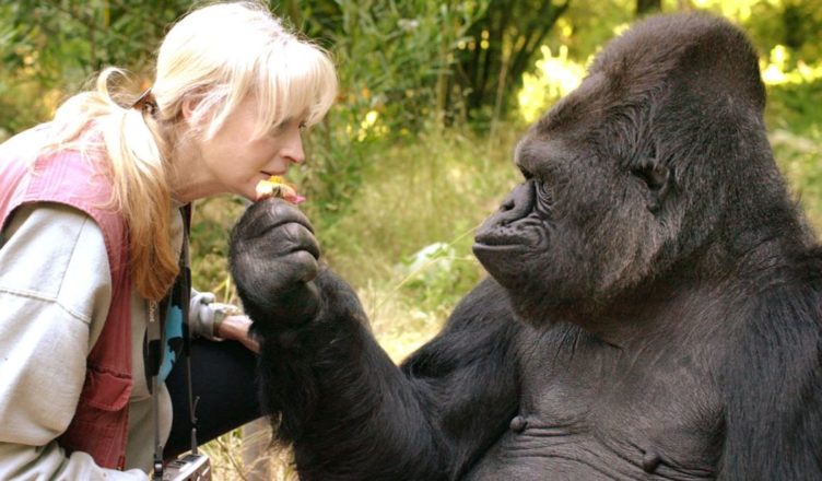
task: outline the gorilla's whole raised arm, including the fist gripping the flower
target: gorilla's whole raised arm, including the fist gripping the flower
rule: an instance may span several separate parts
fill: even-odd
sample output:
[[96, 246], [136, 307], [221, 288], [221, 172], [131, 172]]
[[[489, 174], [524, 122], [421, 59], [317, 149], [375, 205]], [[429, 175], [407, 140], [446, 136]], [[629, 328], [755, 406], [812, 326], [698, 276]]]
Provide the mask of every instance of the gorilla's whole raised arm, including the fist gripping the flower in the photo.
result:
[[[330, 270], [320, 267], [302, 288], [277, 279], [293, 270], [283, 259], [301, 237], [298, 228], [279, 233], [302, 220], [273, 221], [295, 215], [287, 206], [274, 206], [273, 214], [263, 209], [253, 207], [235, 228], [232, 270], [260, 340], [263, 408], [279, 421], [278, 438], [294, 444], [302, 479], [460, 476], [518, 404], [512, 350], [522, 327], [502, 289], [493, 281], [478, 286], [447, 328], [398, 368], [375, 341], [355, 294]], [[244, 231], [255, 223], [275, 225]], [[283, 245], [286, 255], [267, 253]]]

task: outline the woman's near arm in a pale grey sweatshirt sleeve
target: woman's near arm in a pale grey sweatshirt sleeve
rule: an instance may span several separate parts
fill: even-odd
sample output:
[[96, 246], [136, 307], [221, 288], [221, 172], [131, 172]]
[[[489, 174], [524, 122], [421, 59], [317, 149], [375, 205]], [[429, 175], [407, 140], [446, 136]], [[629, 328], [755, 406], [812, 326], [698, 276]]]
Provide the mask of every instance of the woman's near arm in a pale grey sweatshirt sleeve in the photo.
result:
[[67, 456], [85, 360], [105, 322], [110, 274], [103, 234], [61, 204], [20, 208], [0, 248], [0, 479], [146, 479]]

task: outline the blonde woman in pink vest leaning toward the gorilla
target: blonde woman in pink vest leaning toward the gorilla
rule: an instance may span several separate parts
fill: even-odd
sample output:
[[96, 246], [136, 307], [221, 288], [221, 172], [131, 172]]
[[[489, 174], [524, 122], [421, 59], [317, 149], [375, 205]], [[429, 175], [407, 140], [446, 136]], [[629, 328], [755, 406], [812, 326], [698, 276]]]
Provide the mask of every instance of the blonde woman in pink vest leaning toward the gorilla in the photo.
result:
[[[116, 73], [0, 145], [0, 479], [144, 479], [156, 444], [185, 446], [187, 400], [164, 384], [185, 384], [172, 368], [189, 296], [181, 208], [224, 192], [253, 200], [258, 181], [303, 162], [301, 132], [337, 89], [327, 55], [254, 2], [180, 20], [136, 102], [115, 102]], [[254, 400], [215, 402], [254, 391], [250, 351], [237, 349], [255, 349], [249, 321], [212, 301], [191, 293], [189, 329], [243, 344], [195, 341], [195, 395], [234, 383], [197, 414], [247, 421]], [[206, 437], [236, 425], [223, 418]]]

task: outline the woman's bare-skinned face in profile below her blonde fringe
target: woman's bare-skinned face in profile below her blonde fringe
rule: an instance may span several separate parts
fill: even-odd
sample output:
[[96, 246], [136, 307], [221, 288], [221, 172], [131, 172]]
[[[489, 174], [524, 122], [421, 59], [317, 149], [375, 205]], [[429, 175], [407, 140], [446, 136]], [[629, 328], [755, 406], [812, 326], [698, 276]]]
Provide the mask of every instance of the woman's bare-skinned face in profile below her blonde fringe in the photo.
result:
[[302, 118], [291, 118], [257, 139], [256, 122], [257, 104], [254, 96], [248, 96], [213, 138], [198, 142], [201, 164], [209, 177], [206, 184], [211, 184], [210, 192], [200, 192], [198, 197], [231, 192], [255, 200], [257, 183], [272, 175], [283, 176], [291, 164], [305, 161]]

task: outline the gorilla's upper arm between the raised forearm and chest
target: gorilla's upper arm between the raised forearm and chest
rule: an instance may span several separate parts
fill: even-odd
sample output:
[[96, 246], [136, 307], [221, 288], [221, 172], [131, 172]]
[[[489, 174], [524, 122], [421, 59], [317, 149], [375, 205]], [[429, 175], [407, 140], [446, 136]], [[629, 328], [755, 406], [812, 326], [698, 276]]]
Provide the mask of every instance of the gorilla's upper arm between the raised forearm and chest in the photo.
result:
[[446, 328], [401, 365], [422, 390], [448, 449], [448, 479], [470, 467], [508, 429], [519, 407], [516, 319], [493, 280], [474, 289]]

